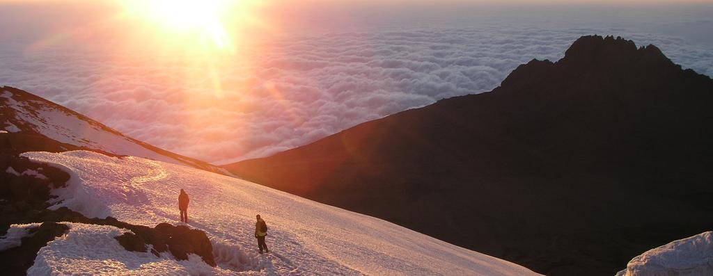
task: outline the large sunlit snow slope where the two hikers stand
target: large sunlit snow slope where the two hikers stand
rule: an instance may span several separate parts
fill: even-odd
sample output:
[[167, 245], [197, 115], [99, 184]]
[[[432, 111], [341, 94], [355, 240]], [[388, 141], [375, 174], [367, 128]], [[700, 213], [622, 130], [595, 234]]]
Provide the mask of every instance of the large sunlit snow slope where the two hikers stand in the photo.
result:
[[[88, 217], [150, 227], [176, 223], [178, 191], [185, 189], [190, 227], [206, 232], [218, 264], [207, 266], [195, 255], [177, 261], [168, 253], [128, 252], [113, 240], [122, 230], [70, 223], [66, 236], [40, 250], [33, 273], [537, 275], [377, 218], [186, 166], [86, 151], [23, 155], [68, 171], [68, 186], [53, 191], [59, 196], [53, 208]], [[257, 254], [256, 214], [270, 228], [270, 254]]]

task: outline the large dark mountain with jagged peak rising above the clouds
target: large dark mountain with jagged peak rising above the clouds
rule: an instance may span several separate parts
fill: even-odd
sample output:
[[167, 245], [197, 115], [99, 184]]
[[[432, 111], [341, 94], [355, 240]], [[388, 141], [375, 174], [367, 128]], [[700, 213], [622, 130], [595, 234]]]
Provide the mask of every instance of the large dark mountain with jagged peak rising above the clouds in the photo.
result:
[[583, 36], [491, 92], [225, 168], [546, 275], [613, 275], [713, 229], [712, 106], [713, 80], [657, 47]]

